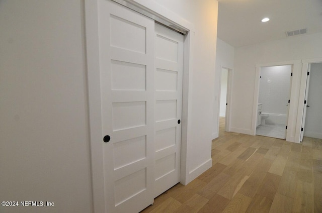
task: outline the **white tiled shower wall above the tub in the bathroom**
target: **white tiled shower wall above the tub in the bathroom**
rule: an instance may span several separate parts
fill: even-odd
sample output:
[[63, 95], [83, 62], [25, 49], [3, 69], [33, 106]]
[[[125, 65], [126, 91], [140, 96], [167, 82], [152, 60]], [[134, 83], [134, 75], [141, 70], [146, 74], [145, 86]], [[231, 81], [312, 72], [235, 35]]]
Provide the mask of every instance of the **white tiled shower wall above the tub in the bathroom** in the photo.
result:
[[291, 65], [261, 68], [259, 102], [263, 113], [287, 114]]

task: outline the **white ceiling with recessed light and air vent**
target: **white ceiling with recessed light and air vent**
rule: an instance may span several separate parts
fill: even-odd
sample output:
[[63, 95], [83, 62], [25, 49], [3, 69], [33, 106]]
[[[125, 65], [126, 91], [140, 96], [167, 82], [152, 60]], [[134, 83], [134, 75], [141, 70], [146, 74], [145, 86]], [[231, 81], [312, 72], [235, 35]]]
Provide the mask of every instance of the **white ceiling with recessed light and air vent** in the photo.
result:
[[[218, 2], [217, 36], [233, 47], [285, 39], [285, 32], [303, 28], [307, 28], [307, 34], [322, 32], [322, 0]], [[262, 23], [265, 17], [270, 21]]]

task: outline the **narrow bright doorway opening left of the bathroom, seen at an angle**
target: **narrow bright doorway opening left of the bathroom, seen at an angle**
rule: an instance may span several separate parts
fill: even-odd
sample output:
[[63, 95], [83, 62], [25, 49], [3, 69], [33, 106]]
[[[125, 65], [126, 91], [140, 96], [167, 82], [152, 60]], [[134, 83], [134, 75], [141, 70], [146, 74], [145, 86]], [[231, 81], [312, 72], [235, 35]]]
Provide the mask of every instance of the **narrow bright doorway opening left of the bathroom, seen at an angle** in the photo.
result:
[[221, 68], [220, 72], [220, 99], [219, 99], [219, 125], [218, 127], [224, 127], [219, 130], [229, 132], [229, 121], [230, 121], [230, 91], [231, 91], [231, 78], [232, 70], [228, 68]]

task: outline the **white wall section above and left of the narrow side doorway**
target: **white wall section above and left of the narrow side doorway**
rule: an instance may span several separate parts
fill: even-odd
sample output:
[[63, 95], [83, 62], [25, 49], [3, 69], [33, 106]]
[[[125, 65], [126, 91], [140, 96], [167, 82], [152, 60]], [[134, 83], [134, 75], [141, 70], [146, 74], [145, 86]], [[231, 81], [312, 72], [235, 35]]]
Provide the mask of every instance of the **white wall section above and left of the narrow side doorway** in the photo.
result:
[[219, 92], [220, 92], [220, 72], [221, 68], [228, 68], [233, 72], [234, 47], [217, 38], [216, 48], [216, 75], [215, 93], [213, 105], [212, 139], [218, 138], [219, 132]]

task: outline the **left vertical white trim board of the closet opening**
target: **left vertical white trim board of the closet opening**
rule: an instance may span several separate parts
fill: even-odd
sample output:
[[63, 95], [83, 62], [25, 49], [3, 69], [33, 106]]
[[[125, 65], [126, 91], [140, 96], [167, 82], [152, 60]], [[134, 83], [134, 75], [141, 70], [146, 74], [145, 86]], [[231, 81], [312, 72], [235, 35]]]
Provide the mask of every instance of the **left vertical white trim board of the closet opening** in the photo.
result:
[[98, 2], [85, 0], [86, 54], [94, 212], [106, 212], [104, 194]]

